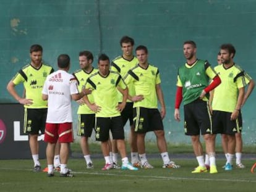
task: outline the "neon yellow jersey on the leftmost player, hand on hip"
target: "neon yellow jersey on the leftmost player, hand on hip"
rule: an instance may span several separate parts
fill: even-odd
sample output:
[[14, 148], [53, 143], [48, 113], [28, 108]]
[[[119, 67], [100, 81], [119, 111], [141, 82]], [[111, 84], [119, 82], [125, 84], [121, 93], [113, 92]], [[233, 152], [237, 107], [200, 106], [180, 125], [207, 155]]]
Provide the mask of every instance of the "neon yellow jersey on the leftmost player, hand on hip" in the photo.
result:
[[33, 104], [24, 106], [25, 108], [47, 108], [47, 101], [42, 99], [42, 90], [46, 77], [53, 72], [53, 67], [46, 64], [42, 64], [40, 69], [35, 69], [32, 65], [28, 64], [12, 78], [12, 82], [15, 85], [23, 83], [26, 90], [26, 98], [33, 99]]

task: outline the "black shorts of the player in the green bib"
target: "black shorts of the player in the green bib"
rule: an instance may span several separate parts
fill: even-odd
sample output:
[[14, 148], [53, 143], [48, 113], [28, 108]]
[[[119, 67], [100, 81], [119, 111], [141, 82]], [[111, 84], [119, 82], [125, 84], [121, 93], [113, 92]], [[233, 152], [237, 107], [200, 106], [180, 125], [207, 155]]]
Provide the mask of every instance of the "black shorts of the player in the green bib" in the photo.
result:
[[184, 131], [186, 135], [212, 133], [211, 114], [208, 101], [197, 99], [184, 105]]

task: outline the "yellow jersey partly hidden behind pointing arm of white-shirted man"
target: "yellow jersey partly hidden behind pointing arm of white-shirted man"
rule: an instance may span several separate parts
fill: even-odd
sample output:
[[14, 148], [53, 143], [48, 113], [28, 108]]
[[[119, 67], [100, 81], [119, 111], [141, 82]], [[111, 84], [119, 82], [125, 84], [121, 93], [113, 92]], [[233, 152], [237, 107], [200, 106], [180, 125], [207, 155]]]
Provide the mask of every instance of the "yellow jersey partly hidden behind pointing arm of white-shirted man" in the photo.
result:
[[[92, 74], [98, 72], [98, 69], [92, 69], [92, 71], [90, 73], [85, 72], [84, 70], [80, 69], [77, 70], [73, 73], [73, 75], [75, 76], [75, 78], [77, 78], [77, 81], [79, 83], [79, 91], [82, 91], [83, 86], [85, 86], [85, 83], [87, 81], [87, 78], [89, 78]], [[88, 94], [87, 95], [89, 101], [91, 103], [94, 102], [93, 96], [92, 94]], [[80, 105], [78, 110], [77, 110], [77, 114], [94, 114], [95, 112], [93, 112], [88, 106], [87, 104], [84, 105]]]

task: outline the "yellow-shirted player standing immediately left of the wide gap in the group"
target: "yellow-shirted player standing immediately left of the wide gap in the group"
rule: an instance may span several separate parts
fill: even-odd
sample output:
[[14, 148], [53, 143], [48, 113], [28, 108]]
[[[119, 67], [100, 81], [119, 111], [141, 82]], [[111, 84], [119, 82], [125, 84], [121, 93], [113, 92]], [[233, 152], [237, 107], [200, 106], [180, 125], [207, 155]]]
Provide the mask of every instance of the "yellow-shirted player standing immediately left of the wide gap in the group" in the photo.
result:
[[[134, 94], [129, 95], [129, 99], [134, 102], [134, 124], [142, 167], [144, 169], [153, 169], [145, 153], [145, 135], [148, 131], [154, 131], [157, 146], [163, 159], [163, 168], [178, 168], [179, 165], [169, 159], [164, 138], [162, 119], [166, 114], [166, 109], [160, 86], [160, 73], [157, 67], [148, 64], [147, 47], [140, 45], [135, 51], [139, 65], [129, 70], [125, 77], [125, 82], [128, 86], [132, 85], [134, 87]], [[161, 114], [158, 111], [158, 101], [161, 105]]]

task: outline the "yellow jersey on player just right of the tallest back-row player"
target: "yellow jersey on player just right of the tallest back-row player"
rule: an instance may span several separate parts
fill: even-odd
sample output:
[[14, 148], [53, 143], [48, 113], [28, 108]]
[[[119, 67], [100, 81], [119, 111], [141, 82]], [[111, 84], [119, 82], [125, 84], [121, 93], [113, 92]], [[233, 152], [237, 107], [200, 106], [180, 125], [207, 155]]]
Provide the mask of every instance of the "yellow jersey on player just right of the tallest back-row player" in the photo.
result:
[[127, 85], [134, 86], [135, 95], [144, 96], [142, 101], [134, 102], [134, 107], [158, 109], [156, 85], [161, 83], [161, 78], [157, 67], [148, 65], [147, 69], [143, 69], [137, 65], [129, 70], [124, 81]]

